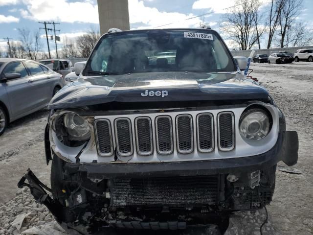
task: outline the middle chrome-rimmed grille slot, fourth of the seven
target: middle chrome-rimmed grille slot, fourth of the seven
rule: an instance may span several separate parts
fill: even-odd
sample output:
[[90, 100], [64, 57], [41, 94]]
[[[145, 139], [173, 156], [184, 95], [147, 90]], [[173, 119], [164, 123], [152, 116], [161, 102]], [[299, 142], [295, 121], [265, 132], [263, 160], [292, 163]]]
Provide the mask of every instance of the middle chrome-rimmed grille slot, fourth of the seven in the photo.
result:
[[[166, 123], [168, 121], [168, 123]], [[162, 123], [159, 123], [162, 122]], [[167, 127], [167, 126], [168, 127]], [[167, 134], [162, 135], [162, 134]], [[169, 134], [169, 135], [168, 135]], [[170, 116], [156, 117], [156, 150], [159, 154], [171, 154], [173, 152], [173, 128]]]

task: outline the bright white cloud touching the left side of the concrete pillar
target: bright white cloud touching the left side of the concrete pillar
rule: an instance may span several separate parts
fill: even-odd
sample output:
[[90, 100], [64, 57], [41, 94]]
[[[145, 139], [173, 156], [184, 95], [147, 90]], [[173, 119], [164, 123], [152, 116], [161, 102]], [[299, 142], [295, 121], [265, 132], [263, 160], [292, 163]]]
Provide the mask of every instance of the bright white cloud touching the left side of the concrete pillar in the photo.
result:
[[93, 0], [23, 0], [26, 10], [20, 10], [25, 19], [99, 24], [98, 6]]

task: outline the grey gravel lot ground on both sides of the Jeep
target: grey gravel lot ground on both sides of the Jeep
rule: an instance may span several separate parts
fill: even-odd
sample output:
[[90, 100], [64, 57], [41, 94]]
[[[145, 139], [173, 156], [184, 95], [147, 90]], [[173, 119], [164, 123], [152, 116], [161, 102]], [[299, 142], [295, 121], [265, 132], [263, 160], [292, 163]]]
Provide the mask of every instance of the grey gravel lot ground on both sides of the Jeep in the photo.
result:
[[[254, 70], [251, 75], [269, 90], [284, 112], [288, 130], [298, 132], [299, 160], [293, 167], [303, 172], [296, 175], [277, 170], [273, 201], [267, 207], [269, 222], [263, 234], [313, 234], [313, 63], [252, 63], [250, 68]], [[16, 186], [28, 167], [50, 185], [43, 142], [47, 115], [43, 110], [14, 121], [0, 137], [0, 235], [35, 233], [27, 232], [30, 228], [45, 234], [65, 234], [28, 189]], [[25, 219], [18, 230], [12, 222], [23, 213]], [[226, 235], [259, 235], [264, 220], [264, 210], [237, 212], [230, 218]]]

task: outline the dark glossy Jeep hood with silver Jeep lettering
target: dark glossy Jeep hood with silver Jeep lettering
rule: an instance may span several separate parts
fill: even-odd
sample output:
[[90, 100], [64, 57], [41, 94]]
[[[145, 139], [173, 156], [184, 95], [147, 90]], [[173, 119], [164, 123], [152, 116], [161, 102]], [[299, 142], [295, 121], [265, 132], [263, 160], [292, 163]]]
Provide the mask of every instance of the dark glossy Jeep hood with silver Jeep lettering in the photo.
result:
[[146, 72], [80, 77], [51, 99], [49, 109], [108, 102], [267, 99], [268, 91], [239, 72]]

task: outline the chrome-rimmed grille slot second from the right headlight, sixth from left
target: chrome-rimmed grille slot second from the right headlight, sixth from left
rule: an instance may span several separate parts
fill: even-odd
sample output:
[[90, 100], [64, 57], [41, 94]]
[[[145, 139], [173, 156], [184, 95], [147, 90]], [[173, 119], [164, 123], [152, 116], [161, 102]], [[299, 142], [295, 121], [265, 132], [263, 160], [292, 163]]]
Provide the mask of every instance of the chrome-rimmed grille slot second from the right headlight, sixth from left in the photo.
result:
[[[210, 119], [201, 120], [201, 118], [209, 117]], [[208, 126], [210, 126], [210, 130], [203, 130], [203, 126], [201, 125], [201, 121], [208, 121]], [[209, 153], [214, 149], [214, 117], [210, 113], [202, 113], [197, 115], [197, 147], [201, 153]], [[210, 133], [211, 132], [211, 133]], [[211, 147], [205, 147], [211, 146]]]

